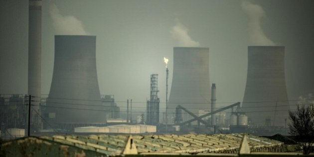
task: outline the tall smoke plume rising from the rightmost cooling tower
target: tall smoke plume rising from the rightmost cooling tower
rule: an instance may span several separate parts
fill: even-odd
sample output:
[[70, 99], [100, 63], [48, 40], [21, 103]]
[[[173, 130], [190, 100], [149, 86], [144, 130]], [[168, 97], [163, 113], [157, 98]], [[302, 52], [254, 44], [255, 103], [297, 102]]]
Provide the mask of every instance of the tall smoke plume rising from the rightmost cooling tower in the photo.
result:
[[265, 16], [263, 8], [260, 5], [252, 4], [248, 1], [242, 1], [241, 7], [250, 17], [249, 29], [252, 44], [258, 46], [276, 45], [276, 43], [266, 37], [261, 27], [261, 18]]

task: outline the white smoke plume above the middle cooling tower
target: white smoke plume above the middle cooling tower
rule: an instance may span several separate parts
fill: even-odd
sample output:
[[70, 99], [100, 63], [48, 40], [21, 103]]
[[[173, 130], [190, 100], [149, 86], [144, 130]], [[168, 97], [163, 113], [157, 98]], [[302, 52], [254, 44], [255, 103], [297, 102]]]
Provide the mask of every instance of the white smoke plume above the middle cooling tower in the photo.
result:
[[176, 25], [173, 26], [170, 30], [171, 36], [177, 41], [178, 46], [184, 47], [198, 47], [200, 46], [199, 42], [194, 41], [188, 35], [188, 29], [177, 21]]

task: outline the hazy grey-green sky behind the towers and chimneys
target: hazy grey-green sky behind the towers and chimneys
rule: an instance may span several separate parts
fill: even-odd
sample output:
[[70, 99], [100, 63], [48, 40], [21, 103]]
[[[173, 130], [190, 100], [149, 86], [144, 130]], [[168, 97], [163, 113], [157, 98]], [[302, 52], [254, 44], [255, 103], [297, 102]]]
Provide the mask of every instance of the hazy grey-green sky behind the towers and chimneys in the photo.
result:
[[[41, 92], [50, 89], [54, 35], [88, 34], [97, 36], [100, 92], [119, 106], [133, 99], [146, 107], [157, 73], [164, 108], [163, 57], [170, 90], [174, 46], [209, 47], [217, 102], [230, 103], [243, 99], [247, 46], [286, 46], [288, 96], [296, 100], [314, 93], [313, 8], [314, 0], [43, 0]], [[1, 0], [0, 22], [0, 93], [26, 94], [28, 0]]]

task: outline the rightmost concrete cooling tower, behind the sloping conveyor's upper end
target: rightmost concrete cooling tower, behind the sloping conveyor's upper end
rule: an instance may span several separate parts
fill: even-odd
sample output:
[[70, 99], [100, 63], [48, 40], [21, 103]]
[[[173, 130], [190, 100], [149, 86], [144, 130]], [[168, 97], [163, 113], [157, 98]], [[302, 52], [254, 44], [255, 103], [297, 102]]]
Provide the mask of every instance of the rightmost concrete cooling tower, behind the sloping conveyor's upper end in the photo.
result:
[[289, 102], [284, 46], [249, 46], [243, 111], [252, 125], [285, 126]]

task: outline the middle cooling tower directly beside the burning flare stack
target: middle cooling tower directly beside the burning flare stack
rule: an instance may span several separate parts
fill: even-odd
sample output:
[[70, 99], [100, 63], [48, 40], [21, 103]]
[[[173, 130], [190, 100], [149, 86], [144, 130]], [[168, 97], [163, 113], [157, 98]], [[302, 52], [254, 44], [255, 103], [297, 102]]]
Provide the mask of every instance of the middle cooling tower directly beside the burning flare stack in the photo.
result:
[[[173, 76], [167, 104], [168, 124], [173, 123], [177, 105], [195, 115], [210, 108], [209, 48], [174, 47]], [[182, 112], [183, 121], [191, 119]]]

